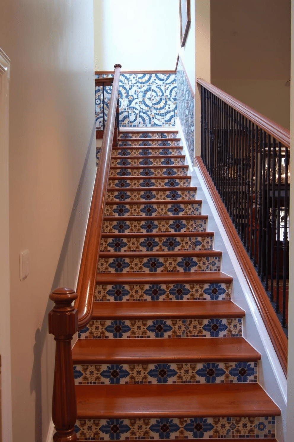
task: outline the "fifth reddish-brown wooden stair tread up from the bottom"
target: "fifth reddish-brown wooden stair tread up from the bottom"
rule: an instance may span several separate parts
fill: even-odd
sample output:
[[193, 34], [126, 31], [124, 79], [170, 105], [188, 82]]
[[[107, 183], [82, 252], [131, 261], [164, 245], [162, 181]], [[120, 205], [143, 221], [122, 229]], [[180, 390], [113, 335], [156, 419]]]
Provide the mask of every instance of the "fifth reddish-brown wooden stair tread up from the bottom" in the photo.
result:
[[142, 251], [131, 251], [131, 252], [108, 252], [108, 251], [101, 251], [99, 253], [100, 258], [121, 258], [121, 257], [134, 257], [140, 255], [141, 258], [149, 258], [152, 257], [177, 257], [181, 255], [182, 257], [186, 256], [194, 256], [194, 257], [200, 257], [200, 256], [221, 256], [222, 252], [220, 250], [191, 250], [191, 251], [150, 251], [150, 252], [142, 252]]

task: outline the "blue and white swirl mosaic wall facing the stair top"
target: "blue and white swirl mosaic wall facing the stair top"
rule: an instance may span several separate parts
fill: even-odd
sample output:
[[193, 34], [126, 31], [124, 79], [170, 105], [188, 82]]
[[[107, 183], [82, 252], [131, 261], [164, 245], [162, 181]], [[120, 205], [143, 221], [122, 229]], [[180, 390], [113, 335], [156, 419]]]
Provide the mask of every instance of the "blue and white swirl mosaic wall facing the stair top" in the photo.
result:
[[[95, 75], [95, 78], [108, 75]], [[111, 87], [104, 88], [106, 114]], [[102, 129], [102, 88], [96, 87], [96, 129]], [[173, 127], [177, 116], [175, 74], [121, 74], [119, 79], [120, 127]]]

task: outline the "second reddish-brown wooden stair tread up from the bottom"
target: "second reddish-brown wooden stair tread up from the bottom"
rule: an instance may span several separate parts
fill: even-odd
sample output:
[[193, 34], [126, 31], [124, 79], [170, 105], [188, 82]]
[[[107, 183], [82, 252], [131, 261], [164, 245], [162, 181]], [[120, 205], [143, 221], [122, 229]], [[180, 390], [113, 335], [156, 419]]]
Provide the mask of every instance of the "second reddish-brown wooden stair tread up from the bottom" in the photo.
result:
[[78, 339], [74, 364], [254, 362], [261, 355], [244, 338]]

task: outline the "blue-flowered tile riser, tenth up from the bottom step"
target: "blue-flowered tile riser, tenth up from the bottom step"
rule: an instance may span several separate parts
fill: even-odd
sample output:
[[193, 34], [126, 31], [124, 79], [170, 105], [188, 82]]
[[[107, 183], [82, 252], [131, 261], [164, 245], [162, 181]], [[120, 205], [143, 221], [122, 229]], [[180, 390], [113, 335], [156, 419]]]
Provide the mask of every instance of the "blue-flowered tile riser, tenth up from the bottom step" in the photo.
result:
[[127, 177], [117, 177], [108, 180], [108, 189], [128, 190], [128, 187], [140, 187], [141, 193], [150, 187], [191, 187], [191, 179], [185, 177], [162, 177], [162, 178], [144, 178], [128, 179]]

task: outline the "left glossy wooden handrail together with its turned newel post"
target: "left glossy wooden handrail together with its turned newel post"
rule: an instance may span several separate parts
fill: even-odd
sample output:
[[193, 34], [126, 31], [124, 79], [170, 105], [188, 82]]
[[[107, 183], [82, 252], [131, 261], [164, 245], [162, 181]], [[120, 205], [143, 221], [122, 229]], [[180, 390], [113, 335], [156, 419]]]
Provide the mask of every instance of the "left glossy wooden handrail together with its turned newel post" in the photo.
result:
[[[56, 428], [54, 440], [59, 442], [76, 441], [74, 425], [77, 419], [77, 405], [71, 340], [74, 333], [88, 324], [93, 311], [99, 245], [115, 131], [120, 68], [121, 65], [115, 65], [112, 95], [93, 189], [77, 293], [68, 288], [59, 288], [49, 296], [55, 302], [55, 307], [49, 312], [48, 322], [49, 333], [54, 335], [56, 341], [52, 420]], [[72, 306], [73, 301], [75, 301], [74, 306]]]

